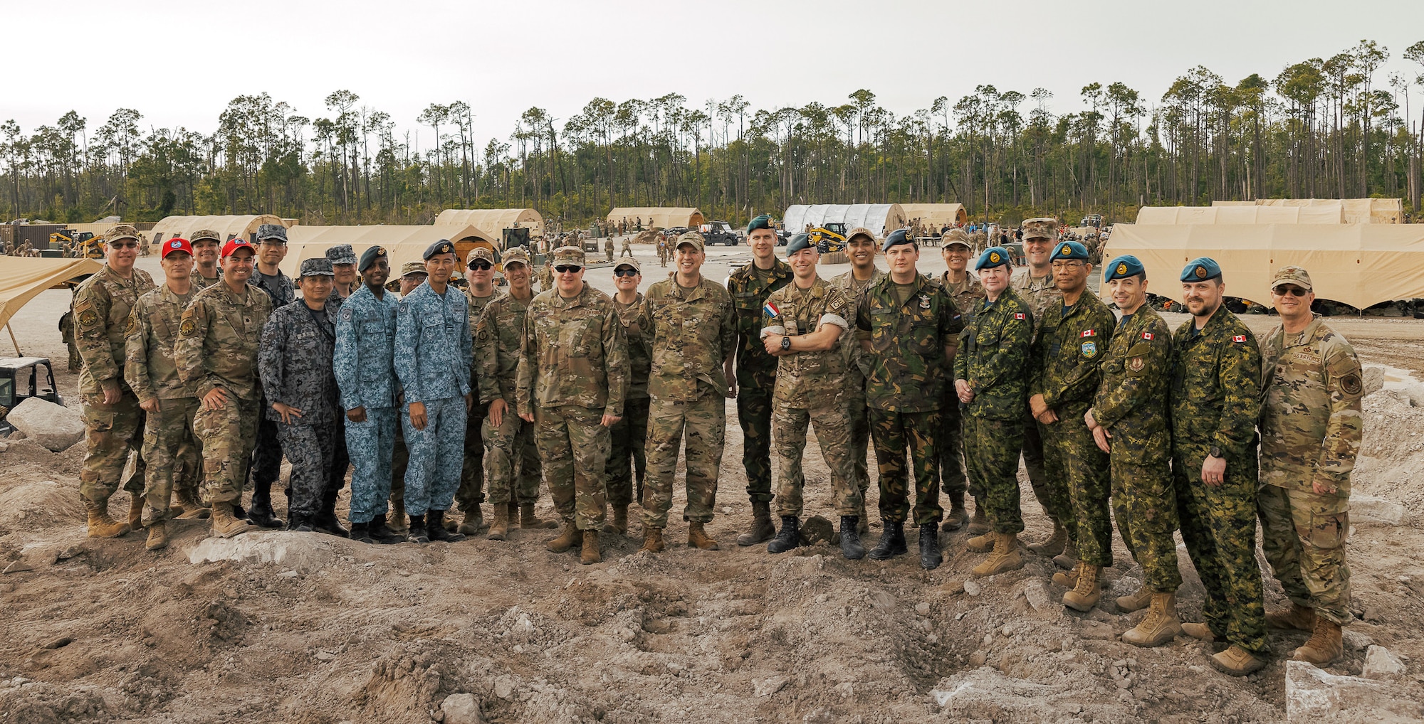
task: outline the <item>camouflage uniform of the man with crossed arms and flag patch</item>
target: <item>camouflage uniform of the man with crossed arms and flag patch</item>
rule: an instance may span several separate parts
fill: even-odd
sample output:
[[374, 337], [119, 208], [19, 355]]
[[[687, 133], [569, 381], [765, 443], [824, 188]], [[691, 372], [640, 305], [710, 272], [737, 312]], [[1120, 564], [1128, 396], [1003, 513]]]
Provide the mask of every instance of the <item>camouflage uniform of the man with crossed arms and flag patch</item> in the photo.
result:
[[[806, 486], [802, 454], [806, 451], [806, 430], [812, 424], [816, 425], [816, 444], [830, 469], [836, 515], [860, 515], [862, 498], [850, 459], [850, 420], [844, 401], [847, 366], [843, 346], [854, 344], [852, 336], [846, 334], [852, 306], [840, 287], [819, 276], [809, 289], [800, 289], [792, 282], [772, 292], [766, 306], [763, 334], [797, 337], [827, 324], [840, 329], [840, 337], [829, 350], [796, 351], [776, 358], [772, 437], [782, 471], [776, 489], [776, 515], [802, 515]], [[772, 309], [776, 310], [775, 314], [770, 313]]]

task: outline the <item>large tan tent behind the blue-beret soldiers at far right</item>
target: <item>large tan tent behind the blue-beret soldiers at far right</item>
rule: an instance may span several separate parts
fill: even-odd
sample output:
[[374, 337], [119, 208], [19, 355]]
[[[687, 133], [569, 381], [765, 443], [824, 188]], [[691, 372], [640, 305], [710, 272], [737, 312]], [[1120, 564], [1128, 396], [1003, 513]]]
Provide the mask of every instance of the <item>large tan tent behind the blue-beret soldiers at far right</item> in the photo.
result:
[[[1119, 223], [1102, 257], [1134, 255], [1148, 290], [1180, 302], [1182, 267], [1199, 256], [1222, 266], [1226, 294], [1270, 306], [1276, 269], [1310, 272], [1316, 297], [1367, 309], [1424, 297], [1424, 225], [1142, 225]], [[1108, 293], [1102, 284], [1099, 294]]]

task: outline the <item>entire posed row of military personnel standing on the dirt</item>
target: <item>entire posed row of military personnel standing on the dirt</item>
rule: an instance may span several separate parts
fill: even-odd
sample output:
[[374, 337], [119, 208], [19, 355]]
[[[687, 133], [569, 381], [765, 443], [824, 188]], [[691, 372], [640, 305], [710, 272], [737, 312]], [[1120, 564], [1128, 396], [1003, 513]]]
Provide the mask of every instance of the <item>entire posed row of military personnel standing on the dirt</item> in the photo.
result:
[[[681, 454], [688, 545], [715, 550], [706, 523], [732, 397], [753, 511], [739, 545], [800, 545], [815, 427], [844, 558], [907, 553], [911, 522], [920, 565], [934, 569], [941, 525], [968, 526], [965, 548], [988, 553], [974, 575], [1014, 570], [1022, 458], [1054, 526], [1028, 549], [1067, 569], [1054, 576], [1065, 606], [1099, 602], [1115, 519], [1145, 577], [1116, 605], [1151, 609], [1125, 642], [1220, 642], [1213, 666], [1245, 674], [1263, 666], [1272, 624], [1313, 632], [1297, 657], [1334, 659], [1351, 619], [1344, 535], [1363, 383], [1349, 343], [1312, 316], [1309, 273], [1276, 275], [1282, 324], [1260, 346], [1222, 309], [1222, 270], [1196, 259], [1180, 277], [1193, 319], [1172, 333], [1146, 304], [1135, 257], [1104, 273], [1118, 316], [1088, 292], [1088, 250], [1059, 242], [1058, 228], [1024, 222], [1018, 273], [1000, 246], [970, 273], [970, 238], [948, 229], [940, 277], [917, 269], [904, 229], [879, 245], [860, 233], [847, 240], [852, 269], [826, 280], [805, 233], [776, 257], [763, 215], [746, 229], [752, 263], [726, 286], [702, 275], [703, 239], [688, 232], [666, 253], [674, 270], [642, 294], [639, 262], [619, 259], [614, 296], [584, 280], [584, 250], [571, 246], [553, 250], [538, 294], [524, 249], [473, 249], [460, 292], [456, 247], [441, 240], [402, 267], [397, 299], [386, 250], [357, 259], [345, 245], [302, 262], [296, 297], [275, 225], [255, 246], [214, 232], [164, 242], [155, 289], [134, 269], [140, 235], [120, 226], [73, 304], [90, 535], [147, 526], [157, 549], [172, 518], [211, 516], [218, 536], [281, 526], [271, 486], [286, 457], [290, 529], [347, 535], [335, 504], [350, 468], [357, 541], [476, 535], [486, 481], [488, 538], [503, 541], [515, 521], [558, 525], [534, 515], [543, 479], [564, 528], [547, 548], [578, 548], [594, 563], [601, 533], [628, 532], [635, 499], [641, 549], [664, 550]], [[508, 292], [493, 286], [496, 265]], [[883, 531], [867, 550], [871, 444]], [[134, 501], [127, 522], [108, 513], [121, 485]], [[459, 525], [446, 519], [456, 504]], [[1257, 518], [1292, 599], [1272, 614], [1253, 556]], [[1176, 529], [1206, 587], [1203, 623], [1178, 619]]]

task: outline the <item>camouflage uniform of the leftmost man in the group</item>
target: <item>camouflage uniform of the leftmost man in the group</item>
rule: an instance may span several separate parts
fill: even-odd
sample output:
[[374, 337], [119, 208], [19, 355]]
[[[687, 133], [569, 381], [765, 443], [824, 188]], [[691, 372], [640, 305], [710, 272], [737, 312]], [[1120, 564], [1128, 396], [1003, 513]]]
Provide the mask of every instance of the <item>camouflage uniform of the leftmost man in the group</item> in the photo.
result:
[[[128, 454], [140, 451], [144, 411], [124, 380], [128, 317], [138, 297], [154, 289], [148, 272], [134, 269], [131, 279], [114, 273], [108, 265], [74, 290], [70, 313], [74, 314], [74, 344], [84, 360], [80, 371], [83, 401], [84, 467], [80, 469], [80, 496], [105, 504], [120, 486]], [[120, 390], [118, 401], [104, 404], [104, 385]], [[142, 455], [124, 489], [138, 496], [144, 492]]]

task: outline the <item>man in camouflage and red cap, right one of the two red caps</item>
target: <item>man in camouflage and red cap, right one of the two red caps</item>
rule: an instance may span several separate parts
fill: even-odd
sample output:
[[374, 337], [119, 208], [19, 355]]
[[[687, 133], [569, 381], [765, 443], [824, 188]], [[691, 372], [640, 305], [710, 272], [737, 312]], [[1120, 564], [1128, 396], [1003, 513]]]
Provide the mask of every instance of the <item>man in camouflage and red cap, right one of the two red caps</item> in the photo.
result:
[[246, 239], [224, 245], [222, 283], [192, 297], [174, 343], [178, 377], [199, 400], [192, 430], [202, 444], [202, 494], [212, 506], [212, 535], [222, 538], [252, 528], [235, 508], [262, 417], [258, 348], [272, 314], [272, 297], [248, 284], [253, 256]]

